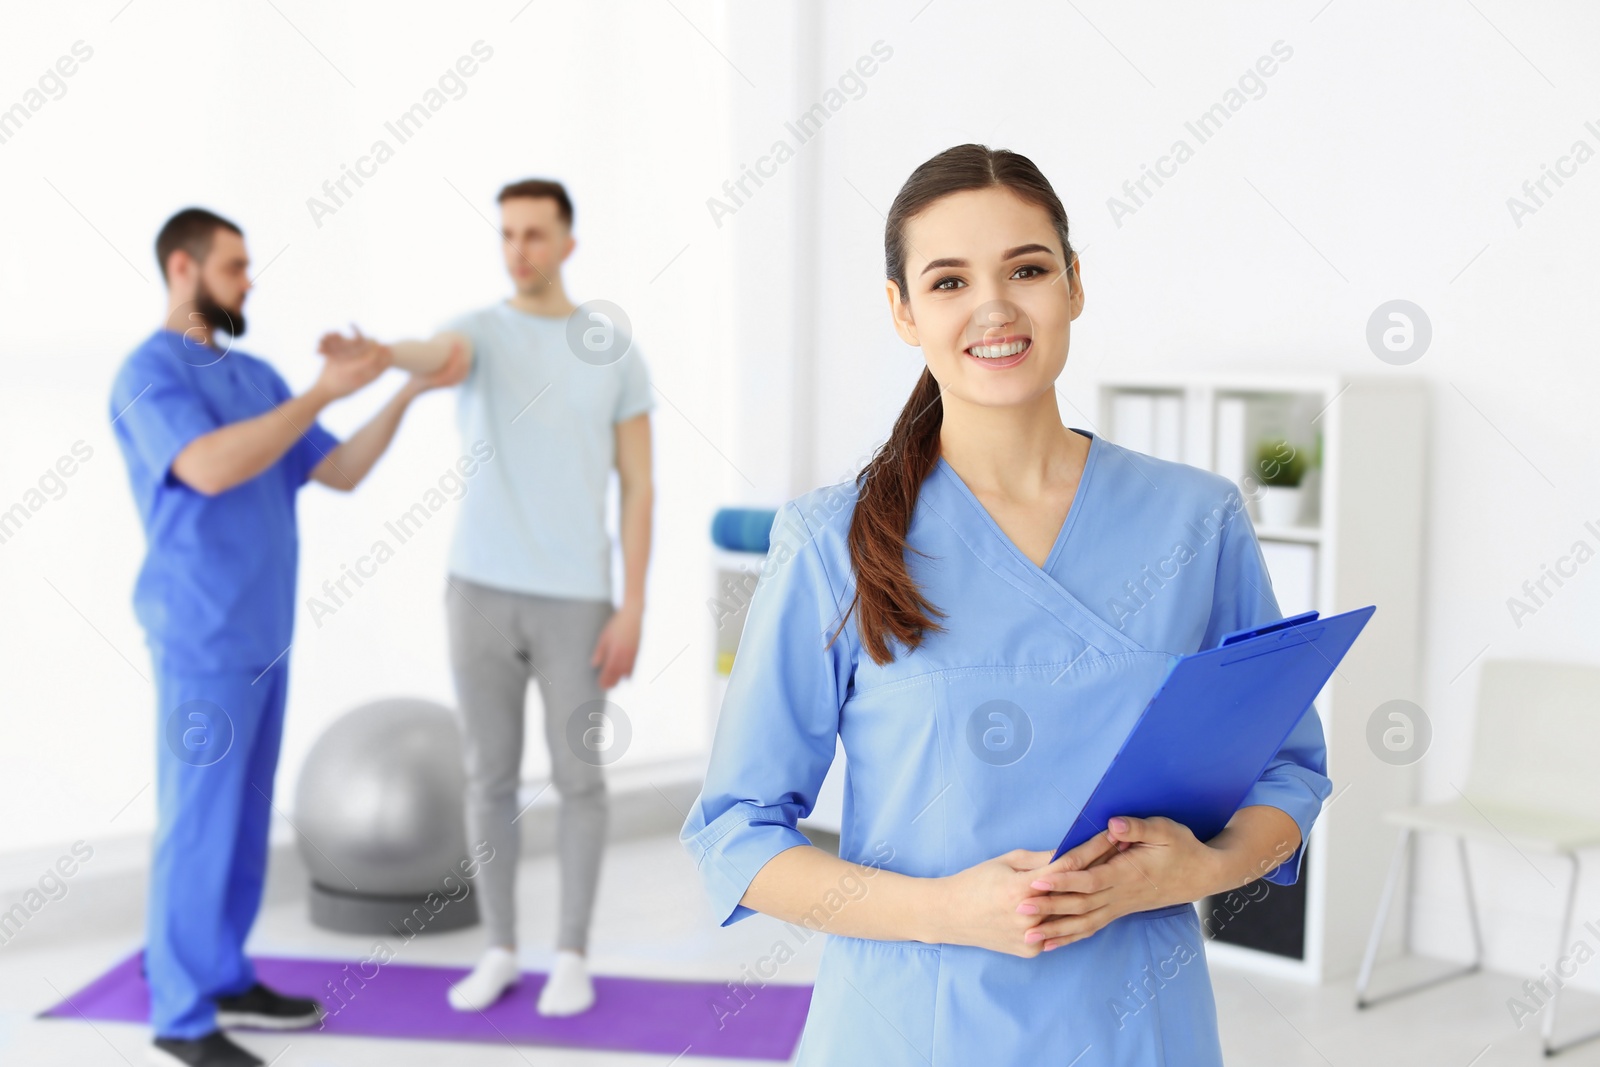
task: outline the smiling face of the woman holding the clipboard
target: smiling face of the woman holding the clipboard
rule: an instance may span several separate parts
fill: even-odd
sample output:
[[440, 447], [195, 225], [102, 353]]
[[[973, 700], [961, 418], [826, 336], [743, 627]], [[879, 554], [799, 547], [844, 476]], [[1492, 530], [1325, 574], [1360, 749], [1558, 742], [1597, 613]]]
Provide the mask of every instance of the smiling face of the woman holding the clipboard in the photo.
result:
[[1067, 266], [1045, 208], [1003, 186], [950, 194], [906, 224], [909, 302], [886, 282], [894, 330], [922, 347], [946, 398], [1032, 400], [1054, 389], [1083, 310]]

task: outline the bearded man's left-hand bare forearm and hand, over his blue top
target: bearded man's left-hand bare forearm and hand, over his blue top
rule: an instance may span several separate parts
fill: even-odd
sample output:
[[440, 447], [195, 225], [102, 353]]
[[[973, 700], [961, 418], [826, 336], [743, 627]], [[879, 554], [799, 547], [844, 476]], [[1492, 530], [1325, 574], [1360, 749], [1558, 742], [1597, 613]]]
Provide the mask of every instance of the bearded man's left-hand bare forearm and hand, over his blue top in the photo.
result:
[[328, 360], [317, 382], [272, 411], [202, 434], [173, 459], [173, 475], [205, 496], [250, 482], [283, 458], [317, 414], [334, 400], [370, 384], [387, 366], [382, 352]]

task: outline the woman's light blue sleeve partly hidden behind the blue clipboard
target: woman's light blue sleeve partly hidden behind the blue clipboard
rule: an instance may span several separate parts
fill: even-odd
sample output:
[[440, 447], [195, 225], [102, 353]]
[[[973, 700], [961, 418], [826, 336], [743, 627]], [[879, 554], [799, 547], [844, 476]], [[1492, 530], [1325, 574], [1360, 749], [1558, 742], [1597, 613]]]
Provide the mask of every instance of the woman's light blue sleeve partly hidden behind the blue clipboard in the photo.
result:
[[[1261, 555], [1261, 544], [1243, 509], [1235, 512], [1222, 528], [1216, 569], [1216, 592], [1211, 601], [1211, 621], [1206, 627], [1203, 648], [1213, 648], [1230, 630], [1266, 625], [1283, 617], [1272, 592], [1272, 577]], [[1322, 733], [1322, 715], [1317, 707], [1306, 713], [1290, 731], [1272, 761], [1245, 793], [1240, 808], [1269, 805], [1283, 811], [1301, 832], [1294, 853], [1262, 878], [1272, 885], [1293, 885], [1306, 857], [1306, 841], [1322, 813], [1323, 801], [1333, 793], [1328, 777], [1328, 745]]]

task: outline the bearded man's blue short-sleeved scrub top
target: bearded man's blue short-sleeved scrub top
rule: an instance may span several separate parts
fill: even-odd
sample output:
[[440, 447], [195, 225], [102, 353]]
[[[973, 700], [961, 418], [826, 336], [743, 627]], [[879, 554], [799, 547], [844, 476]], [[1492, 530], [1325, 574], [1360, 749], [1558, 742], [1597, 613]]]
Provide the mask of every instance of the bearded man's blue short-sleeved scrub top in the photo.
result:
[[202, 434], [290, 400], [270, 365], [157, 330], [117, 371], [110, 419], [144, 523], [133, 608], [158, 659], [187, 672], [262, 670], [294, 630], [294, 494], [339, 440], [312, 422], [283, 456], [205, 496], [173, 475]]

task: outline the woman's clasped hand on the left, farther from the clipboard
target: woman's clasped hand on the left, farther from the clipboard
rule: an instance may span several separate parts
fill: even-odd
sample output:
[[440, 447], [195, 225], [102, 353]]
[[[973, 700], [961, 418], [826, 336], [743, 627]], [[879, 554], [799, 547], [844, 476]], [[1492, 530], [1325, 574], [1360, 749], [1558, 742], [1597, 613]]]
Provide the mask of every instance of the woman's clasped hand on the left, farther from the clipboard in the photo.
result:
[[[1106, 848], [1101, 843], [1101, 849]], [[1088, 862], [1082, 849], [1086, 846], [1080, 845], [1062, 856], [1059, 862], [1066, 864], [1069, 859]], [[1075, 859], [1074, 854], [1077, 854]], [[1029, 883], [1040, 877], [1040, 867], [1050, 862], [1050, 856], [1048, 851], [1014, 848], [1005, 856], [986, 859], [966, 870], [939, 878], [942, 907], [938, 941], [994, 949], [1016, 957], [1037, 957], [1043, 942], [1040, 939], [1029, 941], [1026, 934], [1050, 915], [1038, 909], [1034, 913], [1026, 913], [1021, 904], [1042, 899], [1038, 889], [1029, 888]], [[1059, 864], [1051, 864], [1053, 870], [1058, 867]]]

